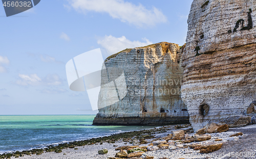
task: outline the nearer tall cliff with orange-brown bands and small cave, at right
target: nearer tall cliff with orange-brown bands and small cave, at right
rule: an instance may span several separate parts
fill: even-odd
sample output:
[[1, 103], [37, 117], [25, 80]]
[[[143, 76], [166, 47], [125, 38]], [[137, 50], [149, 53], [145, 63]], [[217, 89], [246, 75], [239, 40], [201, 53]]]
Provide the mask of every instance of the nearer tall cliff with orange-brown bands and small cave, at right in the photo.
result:
[[181, 96], [195, 130], [246, 114], [256, 100], [255, 1], [205, 2], [191, 5], [182, 56]]

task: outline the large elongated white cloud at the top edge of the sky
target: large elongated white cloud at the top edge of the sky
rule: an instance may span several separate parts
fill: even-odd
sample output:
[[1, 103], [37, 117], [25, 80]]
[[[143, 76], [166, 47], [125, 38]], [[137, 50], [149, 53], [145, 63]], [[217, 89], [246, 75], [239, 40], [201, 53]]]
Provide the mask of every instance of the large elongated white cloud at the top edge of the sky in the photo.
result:
[[[152, 26], [166, 22], [166, 16], [157, 8], [146, 9], [123, 0], [69, 0], [70, 5], [78, 12], [88, 11], [108, 13], [112, 18], [119, 19], [137, 27]], [[65, 5], [66, 8], [67, 5]]]

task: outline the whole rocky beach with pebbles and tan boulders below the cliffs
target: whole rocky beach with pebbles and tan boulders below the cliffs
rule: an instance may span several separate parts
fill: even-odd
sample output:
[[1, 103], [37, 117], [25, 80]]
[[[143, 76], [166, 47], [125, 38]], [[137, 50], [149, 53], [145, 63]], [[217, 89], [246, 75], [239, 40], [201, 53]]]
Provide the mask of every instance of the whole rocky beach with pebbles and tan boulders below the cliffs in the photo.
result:
[[[122, 155], [124, 155], [122, 158], [157, 159], [256, 158], [256, 144], [253, 144], [256, 143], [255, 134], [255, 124], [240, 128], [229, 128], [228, 131], [222, 133], [203, 135], [195, 134], [193, 128], [187, 124], [170, 125], [59, 144], [58, 146], [48, 146], [45, 149], [17, 151], [15, 153], [2, 154], [0, 158], [117, 159]], [[233, 149], [237, 144], [240, 145], [240, 148]], [[104, 154], [106, 151], [103, 149], [107, 149], [108, 152]], [[240, 152], [240, 149], [243, 151]], [[233, 151], [234, 153], [232, 153]], [[240, 156], [237, 155], [238, 157], [236, 157], [236, 152], [239, 152]]]

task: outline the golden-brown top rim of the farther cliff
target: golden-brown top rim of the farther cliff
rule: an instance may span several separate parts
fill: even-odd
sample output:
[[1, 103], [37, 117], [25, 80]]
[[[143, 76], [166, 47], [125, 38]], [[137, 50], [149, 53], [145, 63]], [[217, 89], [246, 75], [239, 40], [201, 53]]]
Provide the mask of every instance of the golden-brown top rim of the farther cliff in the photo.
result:
[[[159, 42], [159, 43], [155, 43], [155, 44], [151, 44], [151, 45], [147, 45], [147, 46], [141, 46], [141, 47], [135, 47], [135, 48], [156, 48], [158, 46], [161, 45], [162, 49], [164, 52], [167, 52], [168, 49], [169, 49], [169, 46], [170, 44], [174, 44], [174, 43], [169, 43], [169, 42]], [[180, 46], [181, 48], [182, 46]], [[109, 56], [108, 58], [106, 58], [106, 60], [109, 60], [109, 59], [112, 59], [112, 58], [115, 58], [118, 54], [120, 54], [121, 52], [130, 52], [132, 49], [135, 49], [135, 48], [126, 48], [124, 50], [121, 50], [119, 52], [117, 52], [116, 54], [113, 54], [111, 56]]]

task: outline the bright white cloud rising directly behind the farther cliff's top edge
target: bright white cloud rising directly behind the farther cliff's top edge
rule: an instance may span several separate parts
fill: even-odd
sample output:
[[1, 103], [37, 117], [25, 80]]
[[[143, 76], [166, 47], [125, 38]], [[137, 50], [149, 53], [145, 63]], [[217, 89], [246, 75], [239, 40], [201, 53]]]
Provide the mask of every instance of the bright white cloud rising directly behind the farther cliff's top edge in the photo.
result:
[[110, 35], [105, 36], [101, 40], [98, 40], [97, 43], [106, 50], [108, 55], [113, 55], [125, 48], [134, 48], [152, 44], [152, 42], [146, 38], [143, 38], [142, 40], [144, 40], [145, 42], [131, 41], [129, 39], [126, 39], [125, 36], [116, 38]]

